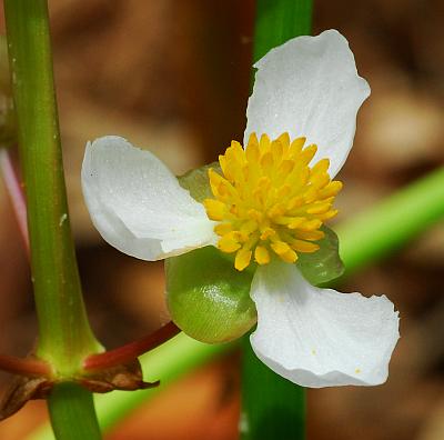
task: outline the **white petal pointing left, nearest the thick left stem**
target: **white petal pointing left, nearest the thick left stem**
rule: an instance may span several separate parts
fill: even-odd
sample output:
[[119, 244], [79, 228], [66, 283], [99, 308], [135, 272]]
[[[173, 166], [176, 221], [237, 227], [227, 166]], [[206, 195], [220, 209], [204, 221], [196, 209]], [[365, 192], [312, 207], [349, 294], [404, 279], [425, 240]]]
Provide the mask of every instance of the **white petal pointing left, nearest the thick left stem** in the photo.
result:
[[216, 240], [203, 206], [155, 156], [123, 138], [87, 144], [82, 188], [95, 228], [130, 256], [158, 260]]

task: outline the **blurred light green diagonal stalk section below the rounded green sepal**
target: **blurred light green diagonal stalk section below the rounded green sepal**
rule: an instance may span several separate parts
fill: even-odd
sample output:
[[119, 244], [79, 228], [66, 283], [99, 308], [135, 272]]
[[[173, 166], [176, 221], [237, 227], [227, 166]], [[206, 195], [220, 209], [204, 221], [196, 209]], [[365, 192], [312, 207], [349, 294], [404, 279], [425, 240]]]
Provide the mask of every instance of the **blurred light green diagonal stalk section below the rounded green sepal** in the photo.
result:
[[[112, 428], [140, 404], [162, 392], [165, 386], [233, 347], [234, 344], [229, 343], [209, 346], [180, 333], [142, 356], [140, 361], [144, 380], [160, 379], [160, 387], [144, 391], [113, 391], [109, 394], [95, 396], [100, 427], [102, 430]], [[53, 436], [50, 427], [44, 426], [27, 440], [53, 440]]]

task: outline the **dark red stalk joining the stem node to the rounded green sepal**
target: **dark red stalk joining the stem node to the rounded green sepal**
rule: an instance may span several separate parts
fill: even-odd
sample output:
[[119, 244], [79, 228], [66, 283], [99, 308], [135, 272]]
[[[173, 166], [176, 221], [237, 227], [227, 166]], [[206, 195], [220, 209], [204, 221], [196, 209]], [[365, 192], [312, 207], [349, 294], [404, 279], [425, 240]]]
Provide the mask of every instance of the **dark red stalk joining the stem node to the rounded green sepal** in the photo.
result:
[[170, 321], [168, 324], [138, 341], [127, 343], [125, 346], [105, 351], [104, 353], [89, 356], [83, 362], [83, 368], [85, 370], [104, 370], [110, 367], [130, 362], [147, 351], [153, 350], [163, 342], [167, 342], [180, 333], [180, 331], [181, 330], [174, 322]]

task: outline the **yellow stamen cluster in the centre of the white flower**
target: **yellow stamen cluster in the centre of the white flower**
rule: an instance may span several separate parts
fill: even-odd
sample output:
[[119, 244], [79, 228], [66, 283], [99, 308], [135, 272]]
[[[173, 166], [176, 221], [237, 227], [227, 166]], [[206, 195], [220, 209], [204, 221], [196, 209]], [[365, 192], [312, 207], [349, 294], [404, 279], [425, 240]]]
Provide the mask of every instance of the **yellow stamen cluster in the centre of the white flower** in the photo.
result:
[[290, 141], [289, 133], [271, 141], [250, 136], [245, 150], [233, 141], [219, 157], [223, 176], [209, 170], [214, 199], [204, 200], [206, 213], [219, 223], [214, 231], [223, 252], [236, 252], [234, 267], [245, 269], [252, 257], [259, 264], [275, 253], [295, 262], [297, 252], [314, 252], [313, 241], [324, 233], [323, 221], [334, 217], [334, 197], [342, 188], [331, 181], [329, 159], [312, 168], [316, 146], [305, 138]]

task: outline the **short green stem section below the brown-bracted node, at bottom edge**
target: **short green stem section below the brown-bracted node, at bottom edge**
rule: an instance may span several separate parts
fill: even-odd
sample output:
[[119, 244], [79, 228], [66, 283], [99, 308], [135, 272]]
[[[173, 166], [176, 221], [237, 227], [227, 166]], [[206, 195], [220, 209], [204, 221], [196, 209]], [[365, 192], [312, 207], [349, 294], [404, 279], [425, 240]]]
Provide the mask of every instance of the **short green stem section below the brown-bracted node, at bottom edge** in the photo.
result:
[[57, 439], [101, 439], [92, 394], [77, 383], [57, 384], [48, 399], [52, 429]]

